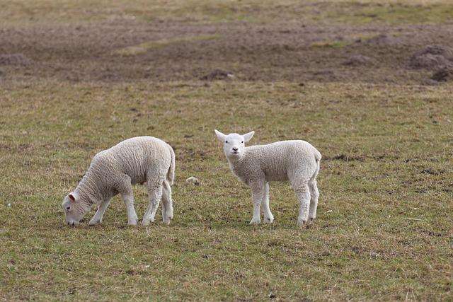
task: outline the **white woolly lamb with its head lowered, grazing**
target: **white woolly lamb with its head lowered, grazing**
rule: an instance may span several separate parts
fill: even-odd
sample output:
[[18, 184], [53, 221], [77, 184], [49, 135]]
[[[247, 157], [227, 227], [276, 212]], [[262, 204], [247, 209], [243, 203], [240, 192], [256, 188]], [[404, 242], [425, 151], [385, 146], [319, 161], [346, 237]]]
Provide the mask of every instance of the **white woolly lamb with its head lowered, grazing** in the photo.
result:
[[120, 193], [126, 204], [127, 224], [137, 225], [132, 185], [146, 182], [149, 194], [147, 212], [142, 224], [154, 222], [162, 198], [162, 219], [169, 224], [173, 219], [171, 185], [175, 178], [175, 153], [170, 145], [155, 137], [126, 139], [96, 154], [76, 190], [64, 198], [62, 207], [66, 221], [77, 226], [93, 204], [98, 211], [88, 223], [101, 223], [110, 199]]

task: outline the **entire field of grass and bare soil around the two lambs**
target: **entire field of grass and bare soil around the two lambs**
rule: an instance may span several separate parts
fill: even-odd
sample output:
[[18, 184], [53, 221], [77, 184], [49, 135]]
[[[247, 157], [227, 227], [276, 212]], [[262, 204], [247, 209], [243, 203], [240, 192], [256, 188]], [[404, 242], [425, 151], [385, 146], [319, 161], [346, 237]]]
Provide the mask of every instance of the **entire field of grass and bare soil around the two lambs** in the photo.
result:
[[[0, 7], [0, 301], [453, 301], [451, 1]], [[271, 183], [249, 226], [214, 129], [314, 144], [314, 224]], [[175, 150], [171, 225], [115, 197], [66, 226], [94, 154], [139, 135]]]

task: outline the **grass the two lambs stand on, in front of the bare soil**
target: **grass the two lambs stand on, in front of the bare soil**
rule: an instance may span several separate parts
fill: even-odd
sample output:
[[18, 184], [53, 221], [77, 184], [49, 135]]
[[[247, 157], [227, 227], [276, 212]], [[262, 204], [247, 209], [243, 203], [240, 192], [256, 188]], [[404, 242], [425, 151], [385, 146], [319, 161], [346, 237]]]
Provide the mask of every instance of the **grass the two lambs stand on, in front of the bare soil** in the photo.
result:
[[[345, 83], [4, 83], [0, 299], [448, 300], [452, 93]], [[296, 228], [296, 199], [280, 183], [270, 190], [275, 224], [249, 226], [250, 191], [231, 175], [214, 128], [253, 129], [252, 144], [318, 147], [314, 226]], [[86, 226], [94, 209], [82, 226], [65, 226], [62, 198], [92, 156], [145, 134], [176, 151], [171, 226], [159, 215], [147, 228], [127, 227], [119, 198], [102, 226]], [[191, 175], [202, 185], [186, 183]], [[147, 194], [134, 191], [143, 215]]]

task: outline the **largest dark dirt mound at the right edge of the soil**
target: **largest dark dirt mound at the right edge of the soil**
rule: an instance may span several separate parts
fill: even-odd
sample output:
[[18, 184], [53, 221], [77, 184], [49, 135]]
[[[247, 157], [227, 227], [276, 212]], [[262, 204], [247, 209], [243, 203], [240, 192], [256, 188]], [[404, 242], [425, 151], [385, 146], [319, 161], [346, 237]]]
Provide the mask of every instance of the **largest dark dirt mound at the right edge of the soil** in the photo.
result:
[[409, 59], [413, 69], [441, 69], [453, 66], [453, 49], [444, 45], [427, 45]]

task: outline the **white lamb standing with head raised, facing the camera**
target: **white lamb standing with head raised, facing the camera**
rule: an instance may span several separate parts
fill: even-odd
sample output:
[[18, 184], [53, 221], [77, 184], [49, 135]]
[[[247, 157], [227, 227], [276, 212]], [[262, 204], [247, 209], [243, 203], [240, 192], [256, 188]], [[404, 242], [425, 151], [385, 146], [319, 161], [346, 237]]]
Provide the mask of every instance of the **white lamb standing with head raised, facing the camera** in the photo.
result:
[[229, 168], [242, 182], [251, 187], [253, 219], [250, 224], [260, 223], [260, 205], [263, 205], [265, 223], [272, 223], [269, 209], [269, 182], [289, 180], [299, 199], [298, 226], [309, 224], [316, 217], [321, 153], [306, 141], [277, 141], [273, 144], [248, 146], [244, 144], [255, 132], [244, 135], [225, 135], [214, 130], [224, 144], [224, 153]]

